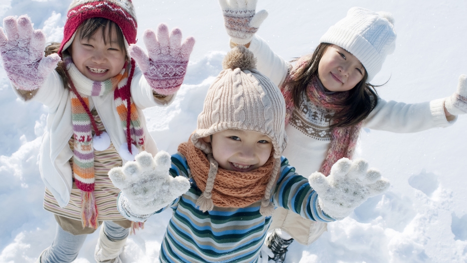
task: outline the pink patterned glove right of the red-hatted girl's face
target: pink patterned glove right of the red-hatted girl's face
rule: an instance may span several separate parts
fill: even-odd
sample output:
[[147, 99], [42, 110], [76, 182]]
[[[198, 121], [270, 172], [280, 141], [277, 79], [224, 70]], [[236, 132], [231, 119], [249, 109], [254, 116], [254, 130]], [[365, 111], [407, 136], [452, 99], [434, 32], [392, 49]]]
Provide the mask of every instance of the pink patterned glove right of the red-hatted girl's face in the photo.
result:
[[187, 73], [189, 55], [193, 50], [194, 38], [182, 43], [182, 31], [175, 28], [169, 36], [166, 24], [160, 24], [156, 33], [146, 29], [143, 41], [149, 56], [139, 46], [132, 44], [129, 55], [134, 58], [144, 77], [155, 92], [162, 95], [176, 93]]

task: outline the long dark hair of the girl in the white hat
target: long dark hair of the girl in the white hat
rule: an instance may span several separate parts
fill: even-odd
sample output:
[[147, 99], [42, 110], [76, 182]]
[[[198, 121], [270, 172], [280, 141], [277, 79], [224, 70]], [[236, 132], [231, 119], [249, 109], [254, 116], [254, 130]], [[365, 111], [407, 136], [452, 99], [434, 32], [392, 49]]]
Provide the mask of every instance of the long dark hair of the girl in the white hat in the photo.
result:
[[[296, 108], [300, 107], [302, 95], [306, 92], [308, 83], [313, 78], [318, 77], [319, 61], [326, 49], [331, 45], [329, 43], [320, 43], [306, 66], [294, 72], [296, 78], [287, 83], [287, 85], [291, 86], [293, 104]], [[366, 83], [367, 78], [368, 74], [365, 71], [363, 79], [348, 91], [349, 96], [338, 105], [341, 110], [337, 111], [331, 118], [330, 128], [356, 125], [365, 120], [376, 107], [378, 103], [378, 96], [374, 89], [376, 86]]]

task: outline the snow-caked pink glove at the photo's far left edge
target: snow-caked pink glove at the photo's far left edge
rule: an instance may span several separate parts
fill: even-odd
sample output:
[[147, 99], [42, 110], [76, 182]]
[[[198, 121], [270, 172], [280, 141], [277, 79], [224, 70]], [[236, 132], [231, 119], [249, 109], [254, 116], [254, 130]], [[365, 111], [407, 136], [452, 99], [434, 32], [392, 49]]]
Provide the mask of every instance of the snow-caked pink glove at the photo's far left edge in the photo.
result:
[[0, 53], [6, 75], [19, 90], [40, 88], [60, 61], [58, 54], [44, 56], [45, 35], [34, 30], [27, 15], [7, 16], [0, 28]]

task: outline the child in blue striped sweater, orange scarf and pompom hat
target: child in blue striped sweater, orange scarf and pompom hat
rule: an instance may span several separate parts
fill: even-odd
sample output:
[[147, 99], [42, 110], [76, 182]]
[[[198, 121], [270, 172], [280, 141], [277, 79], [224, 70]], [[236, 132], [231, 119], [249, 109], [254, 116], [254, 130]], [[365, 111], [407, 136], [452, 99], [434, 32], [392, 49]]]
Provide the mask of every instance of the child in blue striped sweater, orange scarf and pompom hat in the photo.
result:
[[296, 174], [281, 156], [285, 103], [277, 86], [243, 46], [222, 64], [197, 129], [177, 154], [140, 153], [109, 172], [129, 220], [174, 209], [161, 262], [257, 262], [276, 207], [331, 222], [389, 186], [364, 160], [343, 158], [329, 177]]

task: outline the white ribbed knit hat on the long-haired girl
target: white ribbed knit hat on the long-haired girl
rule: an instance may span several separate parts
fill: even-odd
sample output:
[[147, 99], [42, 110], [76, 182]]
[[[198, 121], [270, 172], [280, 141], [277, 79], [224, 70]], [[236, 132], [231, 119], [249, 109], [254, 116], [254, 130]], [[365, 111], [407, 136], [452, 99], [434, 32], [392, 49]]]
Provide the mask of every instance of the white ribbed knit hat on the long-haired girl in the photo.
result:
[[338, 45], [356, 56], [368, 73], [367, 82], [381, 70], [395, 49], [394, 18], [388, 12], [352, 7], [347, 16], [331, 26], [319, 40]]

